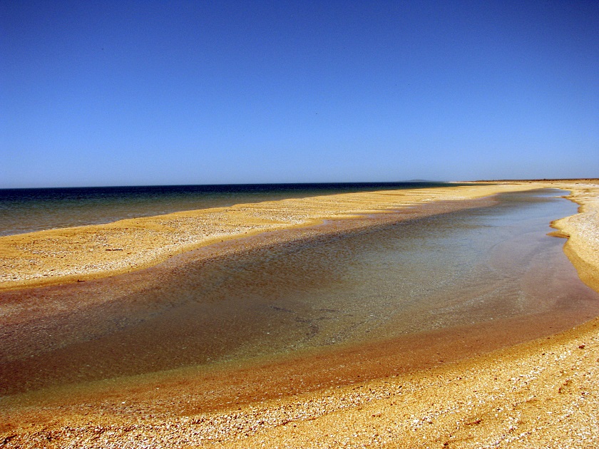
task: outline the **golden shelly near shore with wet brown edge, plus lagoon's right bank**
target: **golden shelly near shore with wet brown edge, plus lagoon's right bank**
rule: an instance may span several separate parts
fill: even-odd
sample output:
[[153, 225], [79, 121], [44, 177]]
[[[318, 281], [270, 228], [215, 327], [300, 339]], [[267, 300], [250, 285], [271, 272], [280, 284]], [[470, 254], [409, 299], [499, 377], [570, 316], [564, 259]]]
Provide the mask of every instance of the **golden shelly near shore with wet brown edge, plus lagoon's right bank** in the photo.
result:
[[[587, 184], [553, 185], [569, 187], [582, 205], [579, 215], [555, 225], [570, 235], [565, 251], [583, 280], [598, 289], [598, 187]], [[0, 403], [0, 442], [595, 447], [598, 322], [501, 349], [543, 335], [551, 320], [563, 329], [568, 314], [580, 319], [578, 311], [565, 309], [557, 317], [538, 317], [538, 326], [523, 334], [513, 332], [522, 329], [515, 319], [496, 323], [496, 329], [486, 324], [431, 332], [237, 370], [185, 368], [100, 381], [68, 398], [60, 389], [7, 397]]]

